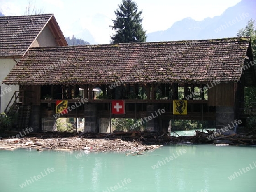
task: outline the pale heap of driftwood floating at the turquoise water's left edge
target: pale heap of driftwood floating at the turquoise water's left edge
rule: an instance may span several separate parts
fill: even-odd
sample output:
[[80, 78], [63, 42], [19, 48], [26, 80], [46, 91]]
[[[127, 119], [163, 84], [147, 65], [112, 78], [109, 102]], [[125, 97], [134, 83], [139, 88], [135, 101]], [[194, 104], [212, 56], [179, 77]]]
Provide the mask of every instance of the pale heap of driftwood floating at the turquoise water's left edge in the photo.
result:
[[38, 139], [36, 137], [0, 140], [0, 149], [36, 148], [38, 151], [55, 149], [60, 151], [130, 151], [141, 152], [159, 148], [160, 145], [143, 145], [139, 141], [123, 141], [121, 139], [85, 139], [80, 137]]

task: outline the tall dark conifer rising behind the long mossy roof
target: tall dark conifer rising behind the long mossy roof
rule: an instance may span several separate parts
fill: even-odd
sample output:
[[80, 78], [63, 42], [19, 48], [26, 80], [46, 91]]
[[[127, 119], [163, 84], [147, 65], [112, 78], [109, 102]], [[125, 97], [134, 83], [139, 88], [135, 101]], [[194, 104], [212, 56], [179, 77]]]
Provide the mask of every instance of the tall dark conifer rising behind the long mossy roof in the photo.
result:
[[115, 34], [111, 43], [136, 43], [146, 41], [146, 31], [142, 28], [142, 11], [138, 12], [137, 3], [132, 0], [123, 0], [119, 9], [114, 11], [117, 18], [113, 21], [112, 30]]

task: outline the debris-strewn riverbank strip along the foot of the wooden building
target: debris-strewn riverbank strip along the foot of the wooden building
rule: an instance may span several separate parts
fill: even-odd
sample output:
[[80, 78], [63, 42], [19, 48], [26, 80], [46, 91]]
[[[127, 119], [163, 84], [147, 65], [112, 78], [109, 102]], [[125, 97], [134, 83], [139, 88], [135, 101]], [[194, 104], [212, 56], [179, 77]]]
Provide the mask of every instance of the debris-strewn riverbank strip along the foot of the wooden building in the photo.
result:
[[[169, 144], [216, 144], [216, 145], [255, 145], [256, 135], [250, 133], [230, 133], [220, 135], [214, 131], [195, 131], [193, 136], [170, 136], [166, 132], [123, 132], [113, 133], [73, 133], [43, 132], [29, 133], [15, 138], [16, 131], [7, 131], [0, 140], [0, 149], [36, 148], [38, 151], [53, 149], [61, 151], [127, 151], [141, 153]], [[10, 139], [9, 139], [10, 138]]]

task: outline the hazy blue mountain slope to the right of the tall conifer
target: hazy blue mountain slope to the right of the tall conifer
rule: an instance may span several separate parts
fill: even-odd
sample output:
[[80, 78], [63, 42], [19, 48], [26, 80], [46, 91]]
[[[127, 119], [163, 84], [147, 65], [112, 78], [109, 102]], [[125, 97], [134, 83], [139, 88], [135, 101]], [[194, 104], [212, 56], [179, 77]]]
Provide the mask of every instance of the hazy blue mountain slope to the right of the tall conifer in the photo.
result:
[[242, 0], [226, 9], [220, 16], [196, 21], [185, 18], [175, 22], [166, 31], [147, 34], [147, 41], [172, 41], [193, 39], [217, 39], [234, 37], [237, 31], [245, 27], [251, 18], [256, 20], [256, 1]]

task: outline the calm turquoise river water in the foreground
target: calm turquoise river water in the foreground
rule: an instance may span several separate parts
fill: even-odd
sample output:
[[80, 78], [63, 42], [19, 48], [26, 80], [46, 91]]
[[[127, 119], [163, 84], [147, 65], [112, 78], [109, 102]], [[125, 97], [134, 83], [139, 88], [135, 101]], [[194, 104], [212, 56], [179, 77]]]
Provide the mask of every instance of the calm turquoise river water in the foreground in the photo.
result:
[[255, 192], [256, 147], [170, 145], [144, 155], [0, 151], [0, 191]]

